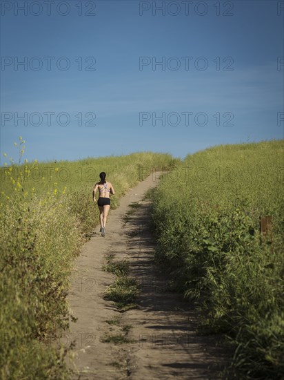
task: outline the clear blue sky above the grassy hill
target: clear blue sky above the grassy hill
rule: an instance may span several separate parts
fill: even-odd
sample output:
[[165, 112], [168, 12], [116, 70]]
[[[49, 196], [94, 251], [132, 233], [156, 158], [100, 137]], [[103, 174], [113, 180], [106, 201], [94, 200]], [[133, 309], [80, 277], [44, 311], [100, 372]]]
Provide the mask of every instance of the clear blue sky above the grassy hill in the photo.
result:
[[28, 160], [283, 138], [281, 2], [24, 3], [1, 2], [1, 153], [20, 135]]

